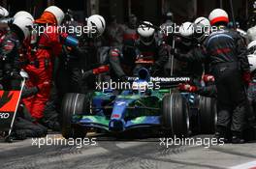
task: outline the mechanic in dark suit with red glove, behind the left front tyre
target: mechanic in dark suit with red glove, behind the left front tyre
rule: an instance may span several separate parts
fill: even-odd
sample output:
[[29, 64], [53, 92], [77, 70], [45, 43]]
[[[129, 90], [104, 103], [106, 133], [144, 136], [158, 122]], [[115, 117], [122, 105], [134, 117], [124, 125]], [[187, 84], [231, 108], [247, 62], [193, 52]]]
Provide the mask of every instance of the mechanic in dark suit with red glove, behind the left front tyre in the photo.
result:
[[79, 38], [80, 50], [76, 55], [79, 55], [80, 59], [78, 60], [77, 70], [73, 72], [78, 77], [76, 82], [77, 91], [82, 94], [93, 92], [96, 76], [109, 71], [109, 66], [100, 63], [96, 57], [101, 45], [102, 35], [106, 30], [105, 18], [99, 14], [92, 14], [85, 20], [85, 25], [89, 31]]

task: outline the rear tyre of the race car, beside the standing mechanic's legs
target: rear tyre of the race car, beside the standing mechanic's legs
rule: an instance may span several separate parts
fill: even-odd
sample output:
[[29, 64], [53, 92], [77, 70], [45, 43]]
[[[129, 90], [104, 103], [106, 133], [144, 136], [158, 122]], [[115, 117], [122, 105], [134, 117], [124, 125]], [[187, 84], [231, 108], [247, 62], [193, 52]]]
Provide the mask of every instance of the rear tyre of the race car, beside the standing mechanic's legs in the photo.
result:
[[199, 121], [201, 133], [212, 134], [215, 132], [217, 123], [217, 107], [215, 99], [200, 97]]

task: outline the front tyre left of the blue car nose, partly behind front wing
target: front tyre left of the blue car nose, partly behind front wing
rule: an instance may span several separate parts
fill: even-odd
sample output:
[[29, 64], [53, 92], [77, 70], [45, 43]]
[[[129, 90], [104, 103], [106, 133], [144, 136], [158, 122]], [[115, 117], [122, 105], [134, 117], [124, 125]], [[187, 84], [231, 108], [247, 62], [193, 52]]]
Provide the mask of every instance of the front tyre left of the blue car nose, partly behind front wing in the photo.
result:
[[61, 132], [66, 139], [86, 136], [86, 131], [82, 127], [72, 124], [74, 115], [80, 115], [86, 111], [84, 102], [86, 102], [86, 96], [82, 94], [67, 94], [62, 100]]

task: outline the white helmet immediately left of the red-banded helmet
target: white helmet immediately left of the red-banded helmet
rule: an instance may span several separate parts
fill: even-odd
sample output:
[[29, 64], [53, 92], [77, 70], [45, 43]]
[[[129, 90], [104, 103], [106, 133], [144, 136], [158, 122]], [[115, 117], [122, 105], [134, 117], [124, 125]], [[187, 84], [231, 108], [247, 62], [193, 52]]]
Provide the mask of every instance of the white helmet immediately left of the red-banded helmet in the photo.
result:
[[198, 17], [194, 21], [195, 38], [199, 42], [203, 42], [206, 36], [208, 36], [209, 31], [210, 31], [210, 23], [207, 17]]

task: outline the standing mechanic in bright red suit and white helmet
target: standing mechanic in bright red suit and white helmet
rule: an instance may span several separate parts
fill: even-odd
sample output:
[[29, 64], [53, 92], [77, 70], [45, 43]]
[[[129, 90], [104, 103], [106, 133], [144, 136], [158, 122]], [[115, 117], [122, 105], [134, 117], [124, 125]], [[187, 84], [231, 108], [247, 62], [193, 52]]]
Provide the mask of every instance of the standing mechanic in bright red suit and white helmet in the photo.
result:
[[[50, 6], [35, 21], [41, 28], [44, 28], [44, 33], [39, 35], [37, 32], [32, 40], [35, 42], [28, 44], [30, 49], [27, 53], [28, 64], [24, 67], [30, 76], [27, 81], [28, 87], [38, 87], [37, 95], [23, 99], [23, 102], [31, 113], [32, 118], [36, 121], [42, 120], [44, 117], [44, 109], [48, 102], [53, 71], [53, 59], [58, 56], [62, 49], [61, 40], [65, 39], [66, 35], [60, 35], [57, 32], [57, 26], [60, 25], [64, 13], [58, 7]], [[42, 29], [41, 29], [42, 30]]]

